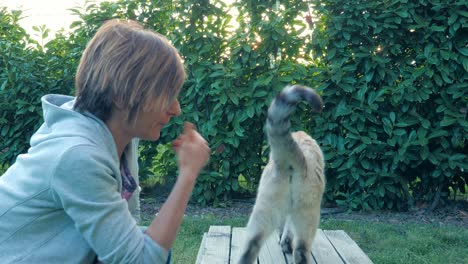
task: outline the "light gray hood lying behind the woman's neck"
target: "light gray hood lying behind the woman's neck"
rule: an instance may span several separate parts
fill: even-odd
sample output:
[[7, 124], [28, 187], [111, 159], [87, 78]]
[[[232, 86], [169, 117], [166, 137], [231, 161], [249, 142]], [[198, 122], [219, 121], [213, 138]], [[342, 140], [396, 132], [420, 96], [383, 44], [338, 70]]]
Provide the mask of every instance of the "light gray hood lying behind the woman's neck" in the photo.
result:
[[89, 112], [80, 113], [73, 109], [75, 97], [49, 94], [41, 98], [44, 124], [31, 137], [31, 147], [59, 138], [86, 139], [104, 145], [118, 161], [117, 147], [107, 125]]

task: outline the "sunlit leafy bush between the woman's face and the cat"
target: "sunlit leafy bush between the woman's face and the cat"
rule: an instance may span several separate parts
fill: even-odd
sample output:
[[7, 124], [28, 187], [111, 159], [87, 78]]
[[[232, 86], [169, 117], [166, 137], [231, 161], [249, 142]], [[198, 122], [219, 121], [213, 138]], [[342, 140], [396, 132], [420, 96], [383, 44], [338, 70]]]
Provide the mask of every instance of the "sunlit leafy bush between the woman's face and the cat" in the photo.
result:
[[[180, 96], [184, 113], [163, 131], [159, 142], [141, 146], [143, 184], [175, 179], [176, 163], [167, 144], [188, 120], [199, 125], [213, 149], [194, 190], [196, 201], [218, 205], [233, 195], [252, 195], [265, 163], [263, 125], [272, 97], [295, 80], [312, 85], [315, 68], [296, 63], [310, 60], [299, 37], [307, 25], [293, 12], [307, 5], [296, 2], [286, 8], [265, 1], [254, 9], [248, 2], [236, 3], [236, 29], [231, 28], [233, 18], [224, 1], [119, 1], [74, 10], [82, 19], [74, 24], [80, 30], [75, 34], [90, 36], [95, 25], [110, 18], [135, 19], [168, 36], [187, 66], [188, 80]], [[259, 18], [256, 24], [245, 23], [251, 14]], [[158, 143], [164, 147], [157, 148]]]

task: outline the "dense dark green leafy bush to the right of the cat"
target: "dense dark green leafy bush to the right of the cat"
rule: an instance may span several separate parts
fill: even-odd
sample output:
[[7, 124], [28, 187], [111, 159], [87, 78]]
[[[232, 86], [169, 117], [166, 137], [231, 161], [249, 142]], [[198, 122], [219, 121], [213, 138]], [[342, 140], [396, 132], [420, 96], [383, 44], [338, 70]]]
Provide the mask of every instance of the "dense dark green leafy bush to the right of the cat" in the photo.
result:
[[[313, 1], [329, 199], [404, 209], [468, 182], [466, 1]], [[341, 201], [340, 201], [341, 200]]]

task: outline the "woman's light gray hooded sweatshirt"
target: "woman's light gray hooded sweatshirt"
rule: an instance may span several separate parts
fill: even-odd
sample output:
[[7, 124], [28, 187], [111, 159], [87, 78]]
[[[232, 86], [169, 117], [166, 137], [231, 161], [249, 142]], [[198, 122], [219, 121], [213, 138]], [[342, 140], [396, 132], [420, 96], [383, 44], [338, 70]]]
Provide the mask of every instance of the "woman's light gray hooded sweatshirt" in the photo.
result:
[[[165, 263], [142, 232], [138, 189], [127, 202], [107, 126], [72, 110], [74, 98], [42, 98], [44, 124], [0, 177], [1, 263]], [[126, 148], [138, 183], [138, 141]]]

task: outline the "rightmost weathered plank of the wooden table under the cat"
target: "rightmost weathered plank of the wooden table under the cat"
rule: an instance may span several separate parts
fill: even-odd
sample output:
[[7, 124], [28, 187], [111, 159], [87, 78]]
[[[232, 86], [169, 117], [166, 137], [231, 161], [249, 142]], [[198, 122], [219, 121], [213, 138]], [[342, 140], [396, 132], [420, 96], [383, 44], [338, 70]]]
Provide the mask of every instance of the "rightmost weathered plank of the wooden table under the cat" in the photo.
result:
[[369, 257], [343, 230], [325, 230], [324, 233], [345, 263], [372, 264]]

